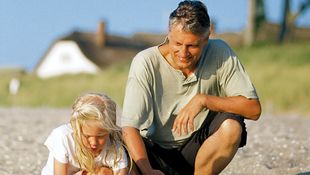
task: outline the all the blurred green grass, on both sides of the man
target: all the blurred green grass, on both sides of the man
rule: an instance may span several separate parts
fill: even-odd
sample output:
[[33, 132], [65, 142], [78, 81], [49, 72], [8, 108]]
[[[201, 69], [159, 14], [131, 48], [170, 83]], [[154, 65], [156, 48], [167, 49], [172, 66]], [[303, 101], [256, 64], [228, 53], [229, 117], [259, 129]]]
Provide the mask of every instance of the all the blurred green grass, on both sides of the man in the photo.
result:
[[[310, 42], [267, 43], [235, 51], [250, 74], [264, 111], [310, 112]], [[90, 91], [104, 92], [122, 105], [128, 70], [129, 63], [123, 63], [98, 75], [42, 80], [31, 74], [20, 74], [21, 89], [16, 96], [8, 94], [14, 74], [0, 71], [0, 105], [69, 107], [78, 95]]]

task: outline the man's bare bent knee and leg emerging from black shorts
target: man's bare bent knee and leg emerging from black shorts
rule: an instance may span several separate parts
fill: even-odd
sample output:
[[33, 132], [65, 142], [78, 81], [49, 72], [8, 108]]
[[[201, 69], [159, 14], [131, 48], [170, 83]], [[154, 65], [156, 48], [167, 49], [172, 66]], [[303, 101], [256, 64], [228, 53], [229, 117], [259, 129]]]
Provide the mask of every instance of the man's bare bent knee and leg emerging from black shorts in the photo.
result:
[[241, 124], [231, 118], [226, 118], [219, 123], [218, 129], [208, 138], [210, 140], [207, 139], [199, 149], [195, 160], [197, 173], [219, 174], [236, 153], [241, 141]]

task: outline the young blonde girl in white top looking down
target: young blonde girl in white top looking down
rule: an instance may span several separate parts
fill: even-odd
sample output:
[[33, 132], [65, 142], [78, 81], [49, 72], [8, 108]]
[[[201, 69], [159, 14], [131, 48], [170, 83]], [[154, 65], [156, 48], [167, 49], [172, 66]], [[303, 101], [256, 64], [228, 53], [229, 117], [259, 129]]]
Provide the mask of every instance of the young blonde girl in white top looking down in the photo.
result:
[[79, 97], [70, 123], [54, 129], [45, 141], [49, 157], [42, 175], [127, 174], [116, 104], [102, 94]]

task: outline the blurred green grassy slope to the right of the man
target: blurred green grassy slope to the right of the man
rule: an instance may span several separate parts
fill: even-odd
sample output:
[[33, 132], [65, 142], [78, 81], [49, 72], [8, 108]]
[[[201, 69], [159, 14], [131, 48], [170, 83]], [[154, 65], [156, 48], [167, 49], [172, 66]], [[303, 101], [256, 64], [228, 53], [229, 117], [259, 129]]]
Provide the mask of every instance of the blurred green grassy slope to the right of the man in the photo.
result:
[[237, 53], [266, 110], [310, 112], [310, 42], [240, 48]]

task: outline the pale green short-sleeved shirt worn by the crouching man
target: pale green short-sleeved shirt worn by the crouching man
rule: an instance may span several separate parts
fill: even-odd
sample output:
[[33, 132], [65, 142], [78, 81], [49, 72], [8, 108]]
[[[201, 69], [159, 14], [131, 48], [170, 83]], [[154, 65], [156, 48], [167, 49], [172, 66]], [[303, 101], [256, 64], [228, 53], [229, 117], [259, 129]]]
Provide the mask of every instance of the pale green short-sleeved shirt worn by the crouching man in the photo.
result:
[[[179, 136], [171, 131], [173, 122], [196, 94], [258, 98], [248, 74], [224, 41], [209, 40], [196, 71], [187, 78], [170, 66], [158, 47], [138, 53], [132, 61], [123, 114], [118, 121], [121, 127], [137, 128], [143, 137], [164, 148], [175, 148], [184, 143], [191, 132]], [[195, 117], [195, 130], [208, 112], [204, 109]]]

